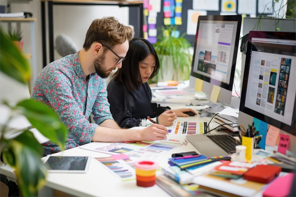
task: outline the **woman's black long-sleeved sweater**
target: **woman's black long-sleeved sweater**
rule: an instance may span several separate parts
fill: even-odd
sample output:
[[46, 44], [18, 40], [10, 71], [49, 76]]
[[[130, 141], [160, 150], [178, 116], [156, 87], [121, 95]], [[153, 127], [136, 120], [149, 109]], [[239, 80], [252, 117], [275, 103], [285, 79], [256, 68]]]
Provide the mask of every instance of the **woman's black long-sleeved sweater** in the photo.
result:
[[107, 86], [108, 102], [114, 120], [120, 127], [132, 128], [140, 126], [141, 119], [154, 118], [169, 107], [156, 107], [151, 103], [152, 93], [148, 83], [141, 85], [139, 90], [128, 92], [125, 85], [120, 82], [110, 81]]

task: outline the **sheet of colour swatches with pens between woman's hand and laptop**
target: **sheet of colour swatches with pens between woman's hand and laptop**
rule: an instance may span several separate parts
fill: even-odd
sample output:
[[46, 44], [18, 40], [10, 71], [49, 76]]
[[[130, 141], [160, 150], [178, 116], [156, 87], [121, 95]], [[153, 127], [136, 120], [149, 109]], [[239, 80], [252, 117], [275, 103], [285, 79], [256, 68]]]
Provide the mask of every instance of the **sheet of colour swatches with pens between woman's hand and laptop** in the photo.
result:
[[202, 134], [206, 132], [207, 122], [174, 121], [172, 126], [166, 126], [169, 134]]

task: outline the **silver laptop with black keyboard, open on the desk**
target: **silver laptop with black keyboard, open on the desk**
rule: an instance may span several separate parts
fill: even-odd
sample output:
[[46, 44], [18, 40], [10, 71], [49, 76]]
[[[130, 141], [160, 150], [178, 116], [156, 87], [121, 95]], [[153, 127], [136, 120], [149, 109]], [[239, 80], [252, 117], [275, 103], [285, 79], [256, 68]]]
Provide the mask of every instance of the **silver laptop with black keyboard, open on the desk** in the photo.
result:
[[221, 133], [186, 135], [186, 138], [201, 154], [207, 157], [231, 155], [235, 153], [235, 146], [241, 145], [232, 136]]

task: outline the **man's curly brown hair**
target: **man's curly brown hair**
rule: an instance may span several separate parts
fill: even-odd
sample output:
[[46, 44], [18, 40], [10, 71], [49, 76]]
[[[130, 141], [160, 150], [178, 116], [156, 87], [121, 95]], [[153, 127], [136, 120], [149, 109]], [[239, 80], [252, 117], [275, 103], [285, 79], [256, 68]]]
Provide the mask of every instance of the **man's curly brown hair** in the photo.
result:
[[86, 32], [83, 48], [88, 51], [94, 42], [113, 48], [114, 45], [130, 41], [133, 36], [131, 27], [121, 24], [114, 17], [95, 19]]

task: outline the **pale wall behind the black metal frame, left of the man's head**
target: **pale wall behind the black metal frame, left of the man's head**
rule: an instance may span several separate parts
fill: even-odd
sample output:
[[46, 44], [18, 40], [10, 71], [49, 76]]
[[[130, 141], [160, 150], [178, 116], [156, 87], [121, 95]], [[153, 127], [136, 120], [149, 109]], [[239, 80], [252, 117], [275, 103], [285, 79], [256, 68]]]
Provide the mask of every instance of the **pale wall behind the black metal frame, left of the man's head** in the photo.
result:
[[[41, 1], [9, 1], [11, 3], [11, 12], [31, 12], [33, 18], [37, 18], [35, 22], [35, 35], [36, 35], [36, 62], [37, 73], [43, 69], [42, 58], [42, 24], [41, 24]], [[6, 5], [7, 1], [1, 0], [0, 4]], [[53, 6], [53, 20], [54, 20], [54, 39], [59, 34], [68, 35], [79, 49], [82, 48], [84, 43], [86, 31], [89, 28], [91, 22], [96, 18], [102, 18], [105, 16], [114, 16], [124, 25], [128, 25], [129, 21], [129, 9], [128, 7], [119, 6], [74, 6], [74, 5], [54, 5]], [[47, 6], [46, 6], [47, 17]], [[6, 23], [0, 23], [1, 27], [7, 29]], [[12, 30], [14, 30], [15, 24], [12, 24]], [[25, 42], [23, 46], [24, 53], [30, 53], [30, 25], [29, 23], [22, 23], [22, 40]], [[48, 36], [48, 29], [46, 25], [46, 34]], [[47, 48], [49, 44], [47, 42]], [[48, 51], [48, 49], [47, 49]], [[47, 52], [47, 64], [49, 63], [49, 52]], [[61, 58], [58, 53], [54, 52], [54, 59]]]

